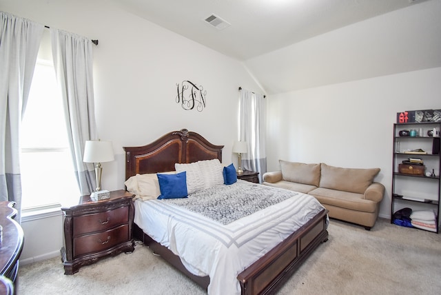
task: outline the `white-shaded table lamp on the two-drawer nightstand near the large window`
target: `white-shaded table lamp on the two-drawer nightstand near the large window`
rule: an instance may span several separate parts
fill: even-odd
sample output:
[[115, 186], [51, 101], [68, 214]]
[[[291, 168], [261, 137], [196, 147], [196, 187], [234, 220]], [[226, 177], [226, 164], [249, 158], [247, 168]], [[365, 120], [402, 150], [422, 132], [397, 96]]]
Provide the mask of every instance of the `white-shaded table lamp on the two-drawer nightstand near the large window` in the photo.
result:
[[110, 161], [114, 161], [112, 141], [85, 141], [83, 162], [95, 163], [96, 189], [90, 195], [94, 201], [110, 198], [108, 190], [101, 190], [101, 163]]

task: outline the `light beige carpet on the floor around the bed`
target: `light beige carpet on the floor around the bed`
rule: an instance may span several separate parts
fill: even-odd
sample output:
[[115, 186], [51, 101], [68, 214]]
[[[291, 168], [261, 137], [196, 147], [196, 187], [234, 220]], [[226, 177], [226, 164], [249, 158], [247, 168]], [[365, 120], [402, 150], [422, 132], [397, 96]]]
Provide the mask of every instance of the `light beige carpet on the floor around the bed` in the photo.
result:
[[[278, 294], [440, 294], [441, 235], [391, 225], [380, 218], [368, 232], [331, 219], [318, 247]], [[19, 269], [18, 294], [205, 294], [189, 278], [136, 245], [63, 274], [60, 258]]]

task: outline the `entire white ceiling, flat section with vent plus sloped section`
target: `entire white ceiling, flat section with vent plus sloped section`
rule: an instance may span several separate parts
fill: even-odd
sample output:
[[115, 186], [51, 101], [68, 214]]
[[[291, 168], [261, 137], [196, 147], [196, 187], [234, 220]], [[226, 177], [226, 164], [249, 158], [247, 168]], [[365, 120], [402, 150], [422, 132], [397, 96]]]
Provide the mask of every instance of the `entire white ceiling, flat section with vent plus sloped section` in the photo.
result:
[[[419, 35], [427, 28], [431, 36], [440, 32], [439, 0], [110, 1], [122, 10], [242, 61], [266, 94], [441, 66], [441, 37], [418, 39], [424, 37]], [[436, 8], [429, 12], [433, 14], [430, 23], [411, 16], [404, 19], [402, 28], [394, 21], [383, 21], [374, 29], [364, 27], [363, 21], [369, 23], [369, 19], [427, 2]], [[209, 24], [205, 19], [212, 14], [229, 26], [219, 30]], [[350, 25], [360, 31], [347, 30]], [[341, 35], [334, 32], [339, 30], [346, 30], [345, 36], [353, 34], [352, 41], [345, 37], [338, 43]], [[405, 35], [408, 33], [404, 30], [409, 30], [410, 35]], [[320, 37], [329, 35], [334, 39]], [[419, 56], [414, 54], [414, 50], [419, 50], [418, 44], [407, 45], [413, 39], [422, 42], [426, 50]], [[295, 57], [299, 50], [300, 58]], [[393, 61], [396, 52], [402, 54], [402, 59]], [[342, 65], [346, 68], [336, 72]]]

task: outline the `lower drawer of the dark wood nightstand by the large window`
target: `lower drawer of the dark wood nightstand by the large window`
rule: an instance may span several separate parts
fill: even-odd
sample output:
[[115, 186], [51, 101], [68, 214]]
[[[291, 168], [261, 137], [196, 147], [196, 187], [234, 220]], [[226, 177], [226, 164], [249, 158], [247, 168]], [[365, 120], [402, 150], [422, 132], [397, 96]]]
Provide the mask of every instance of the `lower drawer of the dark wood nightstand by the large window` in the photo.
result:
[[129, 239], [129, 225], [120, 225], [112, 230], [74, 238], [74, 257], [107, 250]]

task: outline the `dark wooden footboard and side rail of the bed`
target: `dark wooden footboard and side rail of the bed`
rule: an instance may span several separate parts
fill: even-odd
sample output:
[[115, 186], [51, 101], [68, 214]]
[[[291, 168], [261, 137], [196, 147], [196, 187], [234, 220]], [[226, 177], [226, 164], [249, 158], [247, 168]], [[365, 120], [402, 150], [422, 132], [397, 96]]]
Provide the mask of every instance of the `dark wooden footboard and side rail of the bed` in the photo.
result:
[[[288, 236], [255, 263], [238, 274], [237, 278], [242, 294], [272, 294], [280, 288], [289, 277], [296, 272], [316, 247], [327, 241], [327, 210], [322, 210], [299, 230]], [[176, 267], [180, 272], [195, 281], [205, 290], [209, 285], [209, 276], [195, 276], [181, 263], [179, 256], [167, 247], [154, 241], [134, 224], [134, 238], [150, 247], [165, 261]]]

